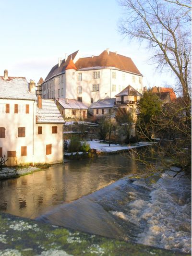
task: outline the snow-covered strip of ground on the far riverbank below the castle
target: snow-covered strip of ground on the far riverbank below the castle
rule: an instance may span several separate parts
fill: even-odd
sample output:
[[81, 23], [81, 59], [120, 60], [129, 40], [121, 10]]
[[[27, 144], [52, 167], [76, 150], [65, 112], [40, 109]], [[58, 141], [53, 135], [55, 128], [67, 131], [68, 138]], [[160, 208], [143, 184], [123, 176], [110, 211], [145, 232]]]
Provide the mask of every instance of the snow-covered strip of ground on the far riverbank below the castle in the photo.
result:
[[153, 143], [148, 143], [148, 142], [139, 142], [139, 144], [134, 144], [132, 146], [129, 145], [120, 145], [120, 144], [111, 144], [111, 146], [108, 146], [108, 143], [103, 143], [100, 141], [88, 141], [89, 145], [91, 148], [95, 148], [97, 151], [100, 152], [115, 152], [118, 150], [123, 150], [123, 149], [131, 149], [131, 148], [136, 148], [136, 147], [141, 147], [141, 146], [147, 146], [151, 145]]

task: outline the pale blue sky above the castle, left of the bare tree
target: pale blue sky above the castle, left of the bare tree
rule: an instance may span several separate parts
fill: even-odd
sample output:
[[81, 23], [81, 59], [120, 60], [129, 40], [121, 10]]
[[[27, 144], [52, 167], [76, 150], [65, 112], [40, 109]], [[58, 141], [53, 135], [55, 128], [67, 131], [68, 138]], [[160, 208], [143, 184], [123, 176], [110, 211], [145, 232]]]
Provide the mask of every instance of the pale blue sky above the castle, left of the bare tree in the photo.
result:
[[132, 58], [144, 86], [174, 83], [148, 64], [150, 49], [120, 34], [124, 10], [118, 0], [6, 0], [0, 9], [0, 75], [8, 69], [9, 76], [37, 83], [65, 53], [79, 50], [87, 57], [108, 48]]

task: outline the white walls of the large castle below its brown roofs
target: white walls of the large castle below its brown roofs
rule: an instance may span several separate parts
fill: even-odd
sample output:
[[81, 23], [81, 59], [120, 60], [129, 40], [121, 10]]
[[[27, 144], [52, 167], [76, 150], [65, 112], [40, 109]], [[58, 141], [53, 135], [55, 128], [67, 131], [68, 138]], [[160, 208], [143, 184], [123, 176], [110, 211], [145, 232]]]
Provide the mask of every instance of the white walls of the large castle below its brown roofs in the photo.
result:
[[[77, 58], [73, 60], [74, 65], [76, 61]], [[142, 79], [139, 71], [132, 73], [113, 66], [80, 66], [77, 70], [66, 69], [46, 80], [42, 84], [42, 98], [77, 99], [89, 107], [98, 99], [114, 98], [128, 85], [143, 94]]]

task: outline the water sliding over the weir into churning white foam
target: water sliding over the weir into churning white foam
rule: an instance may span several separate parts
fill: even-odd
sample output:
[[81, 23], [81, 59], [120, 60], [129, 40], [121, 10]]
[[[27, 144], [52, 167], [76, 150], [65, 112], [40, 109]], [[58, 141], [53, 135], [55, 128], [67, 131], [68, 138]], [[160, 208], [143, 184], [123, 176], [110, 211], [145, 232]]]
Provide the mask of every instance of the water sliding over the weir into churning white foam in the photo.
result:
[[190, 252], [191, 182], [167, 174], [157, 183], [122, 179], [38, 218], [55, 225]]

